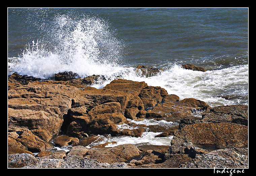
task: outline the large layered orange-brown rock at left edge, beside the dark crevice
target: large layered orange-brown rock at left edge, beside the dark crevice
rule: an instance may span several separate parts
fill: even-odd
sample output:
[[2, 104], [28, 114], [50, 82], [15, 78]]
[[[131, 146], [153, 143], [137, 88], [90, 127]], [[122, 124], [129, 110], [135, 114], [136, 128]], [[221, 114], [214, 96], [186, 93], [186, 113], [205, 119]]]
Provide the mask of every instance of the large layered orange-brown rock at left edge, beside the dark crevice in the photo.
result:
[[[79, 89], [61, 84], [29, 82], [8, 91], [8, 130], [23, 134], [13, 138], [31, 152], [47, 150], [60, 132], [63, 116]], [[13, 144], [13, 143], [12, 143]]]

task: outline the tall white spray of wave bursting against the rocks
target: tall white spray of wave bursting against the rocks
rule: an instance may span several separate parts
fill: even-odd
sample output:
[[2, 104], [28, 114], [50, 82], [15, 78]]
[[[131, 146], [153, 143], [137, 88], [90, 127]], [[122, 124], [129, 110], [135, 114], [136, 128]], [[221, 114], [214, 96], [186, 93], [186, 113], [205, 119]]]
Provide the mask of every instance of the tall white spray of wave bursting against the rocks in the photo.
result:
[[9, 72], [49, 78], [72, 71], [81, 77], [116, 72], [122, 64], [125, 43], [104, 19], [58, 15], [45, 36], [28, 43], [19, 58], [9, 58]]

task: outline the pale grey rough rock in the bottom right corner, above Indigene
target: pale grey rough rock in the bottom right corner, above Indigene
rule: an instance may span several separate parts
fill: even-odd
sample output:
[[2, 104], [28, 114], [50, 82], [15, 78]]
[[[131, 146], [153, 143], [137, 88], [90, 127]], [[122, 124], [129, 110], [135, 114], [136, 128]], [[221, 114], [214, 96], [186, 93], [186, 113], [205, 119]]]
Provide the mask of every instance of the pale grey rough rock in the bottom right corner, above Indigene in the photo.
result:
[[197, 155], [181, 168], [248, 168], [248, 148], [224, 148]]

